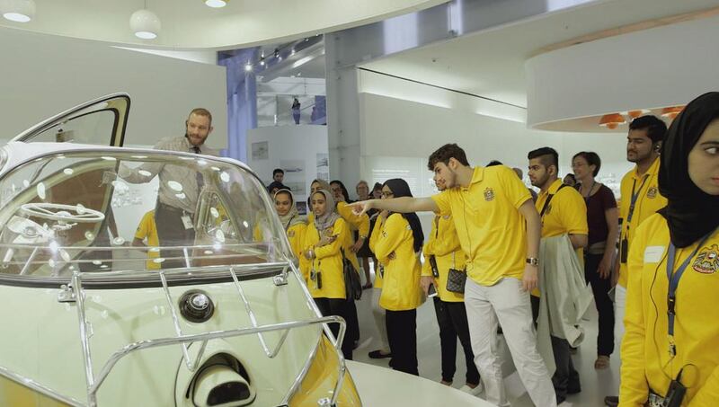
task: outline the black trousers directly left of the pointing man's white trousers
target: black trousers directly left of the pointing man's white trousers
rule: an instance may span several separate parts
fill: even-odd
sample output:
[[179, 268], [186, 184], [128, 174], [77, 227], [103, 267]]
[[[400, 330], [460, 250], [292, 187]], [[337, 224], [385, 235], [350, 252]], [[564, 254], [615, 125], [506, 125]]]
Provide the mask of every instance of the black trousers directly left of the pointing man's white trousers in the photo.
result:
[[442, 380], [451, 382], [457, 371], [457, 337], [465, 350], [466, 383], [479, 385], [479, 372], [475, 354], [469, 340], [469, 324], [466, 321], [464, 302], [450, 303], [434, 297], [434, 313], [439, 325], [439, 345], [442, 351]]

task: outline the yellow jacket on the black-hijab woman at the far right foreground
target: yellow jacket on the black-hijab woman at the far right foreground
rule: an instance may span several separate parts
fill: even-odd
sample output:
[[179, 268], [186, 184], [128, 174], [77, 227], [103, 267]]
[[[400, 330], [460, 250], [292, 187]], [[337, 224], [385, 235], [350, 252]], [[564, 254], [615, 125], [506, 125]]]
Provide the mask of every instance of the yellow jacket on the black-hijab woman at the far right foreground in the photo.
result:
[[[622, 341], [619, 405], [643, 406], [651, 389], [661, 396], [684, 367], [683, 406], [719, 406], [719, 234], [702, 244], [679, 280], [674, 319], [676, 356], [670, 358], [667, 251], [669, 227], [661, 215], [635, 230], [629, 247], [626, 333]], [[674, 272], [697, 248], [677, 249]]]

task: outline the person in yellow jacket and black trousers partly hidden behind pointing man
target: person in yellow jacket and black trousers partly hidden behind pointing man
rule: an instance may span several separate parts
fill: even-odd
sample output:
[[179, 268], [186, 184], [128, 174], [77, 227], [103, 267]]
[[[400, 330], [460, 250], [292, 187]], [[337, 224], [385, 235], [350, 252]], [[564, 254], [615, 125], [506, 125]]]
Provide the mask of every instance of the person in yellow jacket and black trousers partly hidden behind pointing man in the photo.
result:
[[[435, 177], [439, 191], [445, 190], [444, 182]], [[475, 353], [469, 339], [469, 325], [466, 321], [465, 296], [447, 289], [449, 270], [462, 270], [465, 267], [465, 253], [459, 245], [459, 236], [451, 215], [435, 215], [430, 238], [424, 244], [424, 263], [422, 264], [422, 289], [429, 294], [434, 286], [434, 312], [439, 325], [439, 347], [442, 357], [442, 384], [452, 385], [457, 370], [457, 338], [465, 351], [466, 382], [460, 390], [469, 394], [482, 392], [479, 372], [475, 366]], [[463, 271], [464, 272], [464, 271]]]

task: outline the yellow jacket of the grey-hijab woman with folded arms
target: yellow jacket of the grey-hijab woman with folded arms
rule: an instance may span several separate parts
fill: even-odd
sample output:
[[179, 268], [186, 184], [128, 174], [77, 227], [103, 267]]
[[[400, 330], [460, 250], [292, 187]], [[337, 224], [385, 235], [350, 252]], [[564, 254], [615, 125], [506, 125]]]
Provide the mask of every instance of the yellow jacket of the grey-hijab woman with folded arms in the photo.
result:
[[[314, 298], [345, 298], [344, 274], [342, 271], [342, 242], [346, 239], [345, 234], [350, 233], [350, 228], [344, 219], [340, 218], [334, 225], [324, 231], [325, 234], [336, 234], [337, 238], [333, 243], [322, 247], [315, 247], [315, 259], [307, 261], [309, 269], [322, 275], [322, 288], [318, 287], [318, 279], [308, 280], [307, 287]], [[315, 222], [309, 224], [305, 232], [303, 252], [315, 246], [320, 241], [320, 234], [315, 228]]]

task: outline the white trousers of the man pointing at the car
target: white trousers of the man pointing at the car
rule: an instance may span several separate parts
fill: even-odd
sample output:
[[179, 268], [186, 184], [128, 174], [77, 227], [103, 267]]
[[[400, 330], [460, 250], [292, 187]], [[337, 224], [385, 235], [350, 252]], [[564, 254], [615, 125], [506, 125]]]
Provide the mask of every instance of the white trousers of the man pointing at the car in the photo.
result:
[[491, 287], [485, 287], [466, 279], [465, 306], [475, 365], [482, 376], [487, 401], [500, 407], [510, 405], [498, 349], [499, 322], [514, 366], [532, 402], [541, 407], [555, 407], [555, 388], [537, 351], [529, 293], [522, 289], [521, 281], [502, 279]]

